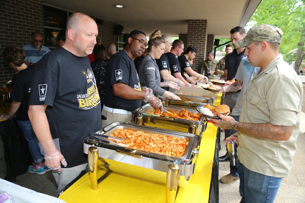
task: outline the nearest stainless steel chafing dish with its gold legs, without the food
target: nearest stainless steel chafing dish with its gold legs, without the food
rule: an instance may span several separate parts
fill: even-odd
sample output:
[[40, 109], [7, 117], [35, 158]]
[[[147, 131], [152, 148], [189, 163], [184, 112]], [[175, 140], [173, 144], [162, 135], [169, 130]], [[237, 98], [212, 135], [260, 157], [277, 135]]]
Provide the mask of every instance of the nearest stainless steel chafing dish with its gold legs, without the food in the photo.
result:
[[[185, 154], [182, 157], [172, 157], [130, 149], [128, 147], [110, 143], [107, 144], [95, 139], [90, 139], [89, 137], [85, 138], [83, 141], [84, 153], [88, 153], [89, 178], [91, 180], [92, 189], [98, 189], [97, 160], [101, 159], [102, 162], [105, 163], [105, 168], [107, 168], [110, 173], [112, 170], [115, 170], [120, 173], [126, 173], [137, 177], [143, 177], [141, 174], [151, 174], [151, 176], [148, 177], [144, 175], [144, 178], [149, 180], [155, 180], [154, 178], [157, 178], [158, 180], [156, 181], [165, 183], [167, 202], [174, 202], [179, 181], [188, 180], [189, 176], [194, 173], [201, 137], [196, 134], [151, 128], [123, 122], [114, 122], [96, 133], [111, 135], [111, 133], [118, 128], [185, 138], [189, 143]], [[120, 166], [116, 167], [116, 165]], [[145, 172], [141, 173], [141, 170], [145, 170]], [[147, 173], [147, 170], [149, 170], [150, 173]], [[164, 178], [161, 178], [161, 180], [160, 177]], [[181, 177], [185, 178], [183, 179]], [[102, 177], [100, 179], [102, 179]]]

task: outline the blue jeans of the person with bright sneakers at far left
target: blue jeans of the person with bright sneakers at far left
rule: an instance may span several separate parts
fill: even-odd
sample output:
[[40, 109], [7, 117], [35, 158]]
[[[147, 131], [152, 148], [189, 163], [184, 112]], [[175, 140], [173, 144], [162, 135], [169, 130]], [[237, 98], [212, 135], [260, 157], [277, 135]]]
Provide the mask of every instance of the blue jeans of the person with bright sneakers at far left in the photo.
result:
[[27, 139], [27, 142], [29, 144], [29, 150], [31, 152], [34, 163], [41, 162], [45, 157], [40, 152], [40, 148], [38, 145], [38, 139], [32, 128], [31, 121], [17, 120], [17, 123], [18, 123], [19, 127], [21, 128], [21, 130], [23, 131], [24, 137]]

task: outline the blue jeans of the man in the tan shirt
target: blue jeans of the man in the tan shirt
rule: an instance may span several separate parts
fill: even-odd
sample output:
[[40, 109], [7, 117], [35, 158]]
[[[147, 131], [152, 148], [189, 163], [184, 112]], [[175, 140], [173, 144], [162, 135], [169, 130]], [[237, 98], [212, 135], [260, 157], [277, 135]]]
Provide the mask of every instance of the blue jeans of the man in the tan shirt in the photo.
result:
[[253, 172], [242, 165], [239, 160], [237, 162], [240, 181], [239, 193], [242, 197], [240, 203], [274, 202], [282, 178]]

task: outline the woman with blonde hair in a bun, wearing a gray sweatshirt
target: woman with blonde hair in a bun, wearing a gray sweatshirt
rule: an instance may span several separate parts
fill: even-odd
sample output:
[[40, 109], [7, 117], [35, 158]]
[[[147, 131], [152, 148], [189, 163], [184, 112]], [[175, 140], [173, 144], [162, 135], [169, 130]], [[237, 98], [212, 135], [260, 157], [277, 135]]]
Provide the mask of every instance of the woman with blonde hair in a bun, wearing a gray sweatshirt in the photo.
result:
[[172, 81], [164, 81], [160, 83], [160, 72], [155, 59], [159, 59], [164, 53], [165, 40], [161, 37], [160, 30], [155, 30], [149, 35], [147, 55], [139, 68], [139, 80], [142, 88], [149, 87], [155, 96], [164, 95], [169, 99], [181, 100], [180, 97], [172, 92], [162, 89], [162, 87], [170, 87], [179, 89], [178, 84]]

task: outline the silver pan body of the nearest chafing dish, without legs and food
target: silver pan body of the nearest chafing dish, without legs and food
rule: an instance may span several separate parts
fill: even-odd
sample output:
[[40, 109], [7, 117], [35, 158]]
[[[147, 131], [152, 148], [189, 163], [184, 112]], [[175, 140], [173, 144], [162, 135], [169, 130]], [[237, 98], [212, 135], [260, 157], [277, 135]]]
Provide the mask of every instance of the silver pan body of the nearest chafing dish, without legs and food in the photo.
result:
[[[111, 159], [121, 163], [131, 164], [134, 166], [140, 166], [162, 172], [167, 172], [167, 168], [170, 163], [176, 163], [180, 167], [181, 176], [190, 176], [193, 174], [195, 169], [196, 159], [199, 153], [199, 145], [201, 142], [200, 136], [196, 134], [151, 128], [147, 126], [141, 126], [141, 125], [129, 124], [123, 122], [114, 122], [96, 133], [99, 134], [103, 133], [104, 135], [110, 135], [113, 131], [115, 131], [118, 128], [143, 131], [146, 133], [152, 132], [152, 133], [158, 133], [172, 137], [185, 138], [186, 140], [189, 141], [189, 143], [184, 156], [173, 157], [173, 156], [156, 154], [152, 152], [145, 152], [141, 150], [134, 150], [131, 148], [117, 146], [113, 144], [106, 144], [104, 142], [89, 139], [88, 137], [85, 138], [83, 141], [84, 153], [88, 154], [88, 148], [91, 147], [92, 145], [95, 145], [95, 147], [97, 147], [99, 150], [100, 158]], [[119, 153], [119, 152], [123, 152], [123, 153]], [[142, 157], [139, 158], [140, 156]]]

